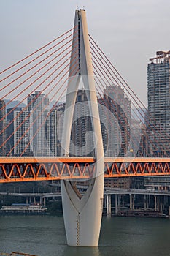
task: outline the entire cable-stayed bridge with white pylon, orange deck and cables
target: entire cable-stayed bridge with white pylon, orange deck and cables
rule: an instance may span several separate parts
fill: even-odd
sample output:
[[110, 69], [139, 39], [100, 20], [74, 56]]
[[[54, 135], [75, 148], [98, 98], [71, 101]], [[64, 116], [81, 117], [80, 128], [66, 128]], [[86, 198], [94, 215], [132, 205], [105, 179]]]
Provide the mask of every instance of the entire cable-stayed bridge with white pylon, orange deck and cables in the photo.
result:
[[[150, 148], [158, 151], [141, 118], [146, 115], [146, 108], [88, 34], [85, 10], [76, 10], [72, 29], [0, 74], [0, 183], [61, 180], [67, 243], [97, 246], [104, 177], [169, 175], [169, 137], [162, 127], [155, 128], [163, 136], [164, 144], [159, 145], [159, 151], [164, 152], [164, 157], [146, 157], [141, 146], [141, 124]], [[78, 111], [77, 92], [81, 83], [88, 107], [82, 104]], [[111, 90], [115, 88], [123, 91], [124, 105]], [[17, 103], [11, 107], [14, 101]], [[72, 132], [75, 112], [84, 127]], [[84, 116], [80, 115], [82, 112]], [[140, 120], [137, 129], [137, 123], [131, 124], [131, 115]], [[85, 116], [90, 116], [88, 128], [93, 131], [88, 138], [89, 148], [88, 142], [86, 146], [84, 143]], [[151, 118], [147, 115], [148, 126]], [[103, 128], [107, 127], [104, 132], [102, 122]], [[114, 147], [110, 145], [108, 150], [109, 141]], [[81, 195], [74, 181], [85, 179], [89, 186]]]

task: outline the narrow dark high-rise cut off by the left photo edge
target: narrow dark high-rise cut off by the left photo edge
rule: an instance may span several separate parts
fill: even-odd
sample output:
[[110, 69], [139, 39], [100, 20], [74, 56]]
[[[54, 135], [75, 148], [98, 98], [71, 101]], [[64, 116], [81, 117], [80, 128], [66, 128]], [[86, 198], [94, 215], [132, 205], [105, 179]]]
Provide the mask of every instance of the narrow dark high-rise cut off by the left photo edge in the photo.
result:
[[4, 141], [6, 140], [6, 119], [4, 118], [5, 115], [5, 102], [3, 99], [0, 99], [0, 157], [6, 155], [6, 144], [3, 145]]

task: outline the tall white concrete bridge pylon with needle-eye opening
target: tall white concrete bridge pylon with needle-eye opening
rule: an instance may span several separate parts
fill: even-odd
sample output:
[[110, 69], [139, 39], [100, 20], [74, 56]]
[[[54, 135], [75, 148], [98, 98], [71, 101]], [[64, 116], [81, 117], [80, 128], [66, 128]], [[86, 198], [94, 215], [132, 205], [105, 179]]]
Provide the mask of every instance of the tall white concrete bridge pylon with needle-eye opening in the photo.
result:
[[[75, 56], [79, 62], [78, 75], [72, 74]], [[98, 246], [104, 195], [104, 150], [85, 10], [75, 12], [69, 86], [66, 92], [61, 140], [61, 155], [63, 156], [69, 156], [72, 119], [80, 78], [82, 78], [88, 98], [88, 108], [95, 134], [94, 140], [96, 140], [94, 141], [96, 145], [94, 148], [95, 173], [85, 195], [80, 195], [72, 181], [61, 181], [63, 219], [69, 246]]]

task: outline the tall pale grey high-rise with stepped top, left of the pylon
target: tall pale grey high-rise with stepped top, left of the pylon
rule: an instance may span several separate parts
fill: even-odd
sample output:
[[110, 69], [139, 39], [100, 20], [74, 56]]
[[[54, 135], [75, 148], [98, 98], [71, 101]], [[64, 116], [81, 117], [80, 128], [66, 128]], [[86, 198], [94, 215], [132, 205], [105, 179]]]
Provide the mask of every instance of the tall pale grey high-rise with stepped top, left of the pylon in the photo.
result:
[[34, 156], [50, 155], [49, 99], [41, 91], [35, 91], [27, 98], [30, 113], [31, 150]]

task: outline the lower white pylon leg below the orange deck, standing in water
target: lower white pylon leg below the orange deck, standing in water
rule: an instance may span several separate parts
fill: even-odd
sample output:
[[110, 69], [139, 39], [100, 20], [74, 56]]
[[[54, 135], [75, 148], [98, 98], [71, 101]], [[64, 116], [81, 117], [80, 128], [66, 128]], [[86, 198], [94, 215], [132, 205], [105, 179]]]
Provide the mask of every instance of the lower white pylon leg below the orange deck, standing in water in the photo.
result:
[[70, 181], [61, 181], [63, 219], [69, 246], [98, 246], [103, 211], [103, 176], [90, 181], [78, 197]]

